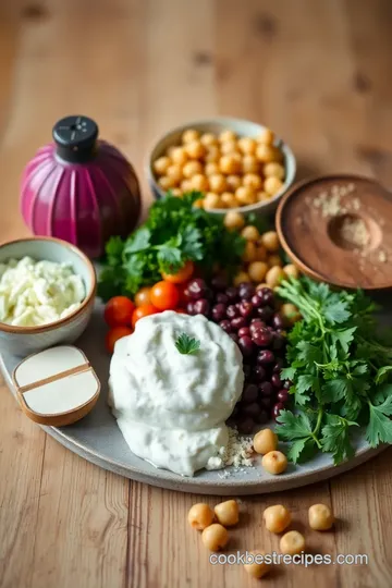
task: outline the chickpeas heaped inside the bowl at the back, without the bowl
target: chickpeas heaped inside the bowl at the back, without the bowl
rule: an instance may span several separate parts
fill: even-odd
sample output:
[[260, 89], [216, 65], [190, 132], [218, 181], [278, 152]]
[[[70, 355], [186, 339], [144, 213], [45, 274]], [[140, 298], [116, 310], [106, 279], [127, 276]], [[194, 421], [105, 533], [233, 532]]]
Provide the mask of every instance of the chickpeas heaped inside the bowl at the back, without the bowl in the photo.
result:
[[205, 193], [195, 204], [206, 210], [247, 206], [272, 198], [283, 187], [283, 154], [273, 142], [269, 128], [256, 138], [187, 128], [181, 145], [169, 147], [152, 168], [161, 189], [174, 196]]

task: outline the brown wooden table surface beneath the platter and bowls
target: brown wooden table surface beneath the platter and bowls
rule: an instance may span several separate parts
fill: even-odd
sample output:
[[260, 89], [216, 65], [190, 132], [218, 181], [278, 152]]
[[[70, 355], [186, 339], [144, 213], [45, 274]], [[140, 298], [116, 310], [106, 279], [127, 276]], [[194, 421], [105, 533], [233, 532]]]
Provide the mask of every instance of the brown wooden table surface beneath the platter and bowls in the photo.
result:
[[[1, 241], [27, 234], [22, 168], [70, 113], [96, 119], [140, 176], [157, 134], [220, 113], [275, 130], [302, 177], [358, 172], [392, 186], [391, 24], [389, 0], [2, 0]], [[103, 471], [48, 438], [4, 385], [0, 403], [1, 588], [256, 586], [241, 565], [209, 564], [186, 524], [199, 497]], [[286, 504], [301, 527], [326, 502], [340, 522], [308, 534], [311, 551], [366, 553], [368, 565], [280, 566], [268, 585], [390, 587], [391, 457], [244, 500], [232, 549], [277, 548], [266, 505]]]

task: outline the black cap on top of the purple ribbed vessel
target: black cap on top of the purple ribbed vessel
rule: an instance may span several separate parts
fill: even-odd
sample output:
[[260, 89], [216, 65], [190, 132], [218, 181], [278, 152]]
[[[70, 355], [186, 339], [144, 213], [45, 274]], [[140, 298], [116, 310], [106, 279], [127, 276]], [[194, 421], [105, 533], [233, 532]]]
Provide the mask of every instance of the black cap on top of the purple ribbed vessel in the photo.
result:
[[56, 151], [61, 159], [84, 163], [96, 155], [98, 125], [87, 117], [65, 117], [52, 131]]

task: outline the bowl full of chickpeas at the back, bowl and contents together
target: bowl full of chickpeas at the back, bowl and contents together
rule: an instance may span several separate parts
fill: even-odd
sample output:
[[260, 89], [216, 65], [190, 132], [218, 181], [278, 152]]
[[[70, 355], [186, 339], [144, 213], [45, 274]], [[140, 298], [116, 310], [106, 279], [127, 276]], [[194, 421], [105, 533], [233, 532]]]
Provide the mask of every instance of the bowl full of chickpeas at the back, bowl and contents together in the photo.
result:
[[156, 198], [198, 191], [209, 212], [271, 213], [293, 184], [291, 148], [261, 124], [217, 118], [177, 126], [161, 137], [147, 164]]

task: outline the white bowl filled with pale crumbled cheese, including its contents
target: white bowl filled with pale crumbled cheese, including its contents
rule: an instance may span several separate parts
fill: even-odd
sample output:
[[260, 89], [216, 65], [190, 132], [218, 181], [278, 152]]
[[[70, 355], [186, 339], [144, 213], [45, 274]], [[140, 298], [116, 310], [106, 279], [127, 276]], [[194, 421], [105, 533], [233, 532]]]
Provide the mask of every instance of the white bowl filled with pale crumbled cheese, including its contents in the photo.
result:
[[73, 343], [87, 327], [96, 286], [91, 261], [64, 241], [0, 245], [0, 352], [24, 356]]

